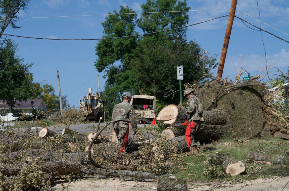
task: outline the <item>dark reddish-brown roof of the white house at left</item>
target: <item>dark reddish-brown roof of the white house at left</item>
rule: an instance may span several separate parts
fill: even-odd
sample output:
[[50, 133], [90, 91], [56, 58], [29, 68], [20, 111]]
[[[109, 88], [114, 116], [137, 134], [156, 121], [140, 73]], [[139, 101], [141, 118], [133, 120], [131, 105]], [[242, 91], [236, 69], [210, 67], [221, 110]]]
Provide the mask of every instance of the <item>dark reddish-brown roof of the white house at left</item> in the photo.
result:
[[[27, 109], [27, 108], [41, 108], [41, 106], [43, 107], [43, 110], [45, 112], [47, 112], [46, 106], [43, 102], [43, 100], [23, 100], [23, 101], [19, 101], [19, 100], [15, 100], [16, 104], [14, 104], [13, 108], [15, 109]], [[10, 106], [8, 106], [6, 103], [7, 101], [5, 100], [0, 100], [0, 102], [5, 103], [4, 108], [10, 108]]]

